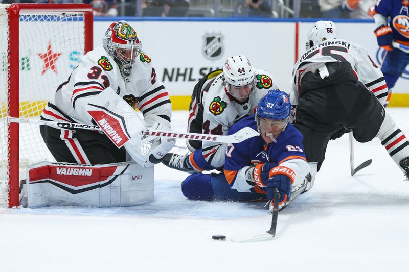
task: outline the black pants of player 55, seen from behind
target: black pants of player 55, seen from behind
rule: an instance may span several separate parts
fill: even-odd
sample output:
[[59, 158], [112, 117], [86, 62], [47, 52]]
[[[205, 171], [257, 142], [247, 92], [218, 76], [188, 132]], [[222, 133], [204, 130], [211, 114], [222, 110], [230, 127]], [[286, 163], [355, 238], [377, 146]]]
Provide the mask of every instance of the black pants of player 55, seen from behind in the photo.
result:
[[332, 134], [352, 129], [358, 142], [371, 141], [379, 131], [385, 110], [376, 96], [357, 81], [348, 62], [327, 63], [329, 77], [307, 72], [301, 80], [294, 126], [303, 134], [309, 162], [325, 159]]

